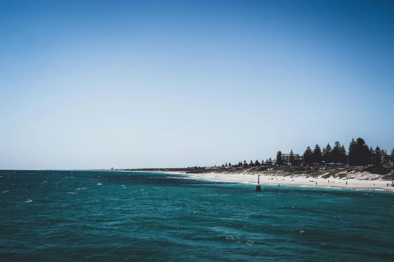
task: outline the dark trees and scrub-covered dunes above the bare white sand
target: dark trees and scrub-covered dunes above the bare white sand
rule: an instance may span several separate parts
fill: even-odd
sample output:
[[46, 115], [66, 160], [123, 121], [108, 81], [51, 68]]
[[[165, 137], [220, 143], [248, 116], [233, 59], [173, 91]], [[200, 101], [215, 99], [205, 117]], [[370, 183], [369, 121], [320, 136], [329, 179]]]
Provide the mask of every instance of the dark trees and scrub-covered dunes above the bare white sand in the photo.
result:
[[[309, 146], [299, 156], [290, 151], [287, 158], [283, 158], [281, 151], [276, 159], [271, 158], [259, 162], [245, 160], [232, 165], [225, 163], [212, 167], [188, 168], [144, 168], [123, 169], [123, 171], [151, 171], [151, 172], [184, 172], [190, 174], [262, 174], [278, 176], [303, 176], [322, 178], [354, 178], [354, 174], [362, 175], [363, 179], [394, 179], [394, 148], [390, 154], [378, 146], [368, 147], [362, 138], [352, 139], [346, 151], [344, 145], [335, 142], [334, 147], [328, 144], [321, 149], [317, 144], [312, 150]], [[353, 176], [352, 176], [353, 174]], [[370, 174], [370, 175], [369, 175]], [[358, 176], [360, 177], [360, 176]]]

